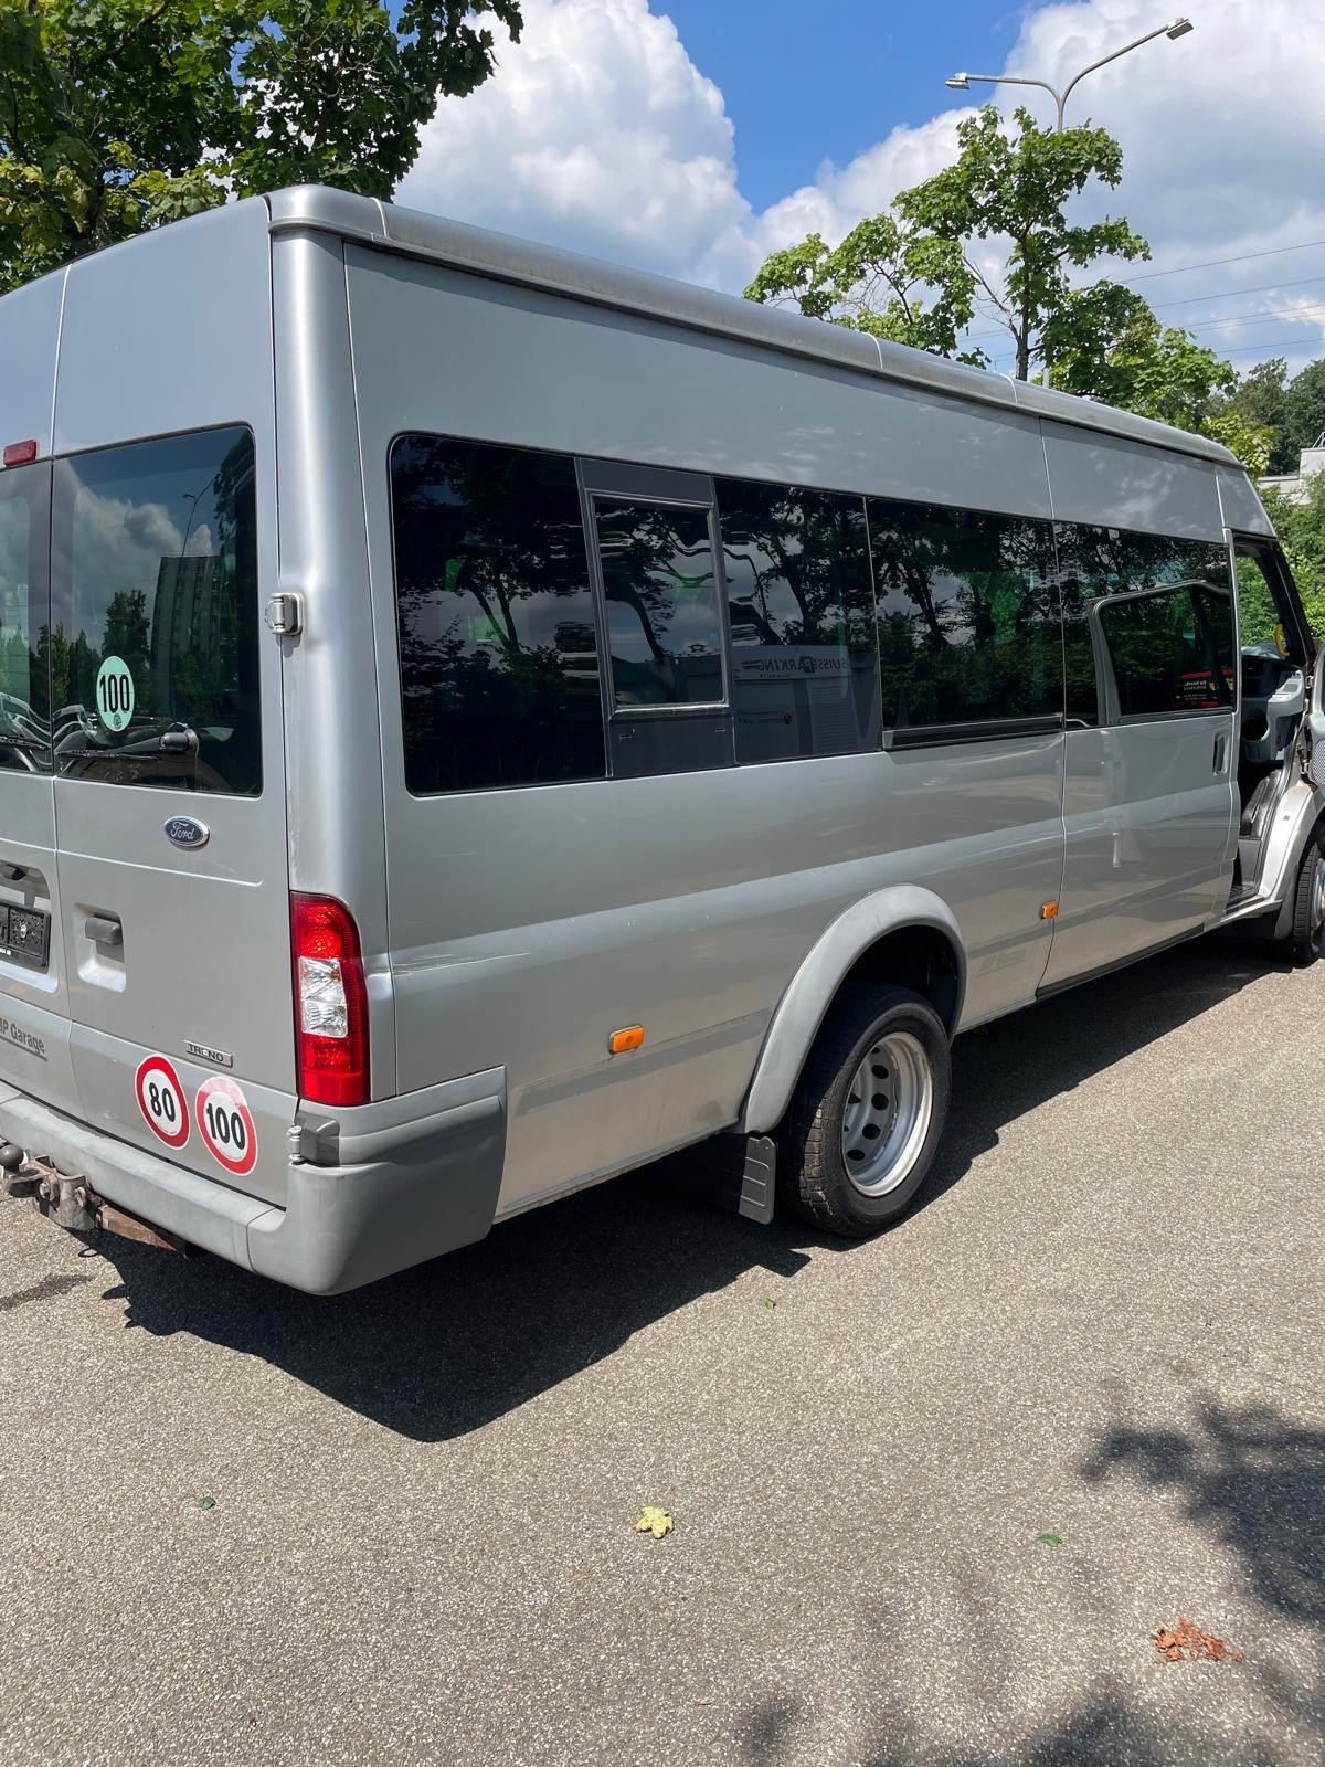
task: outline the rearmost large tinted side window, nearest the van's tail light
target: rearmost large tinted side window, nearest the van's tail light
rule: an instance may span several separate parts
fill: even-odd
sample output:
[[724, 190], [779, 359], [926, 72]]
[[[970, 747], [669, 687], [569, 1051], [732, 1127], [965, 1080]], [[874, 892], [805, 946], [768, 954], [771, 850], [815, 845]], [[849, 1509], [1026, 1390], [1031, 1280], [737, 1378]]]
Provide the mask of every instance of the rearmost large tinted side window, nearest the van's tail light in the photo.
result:
[[390, 498], [410, 792], [601, 779], [574, 461], [403, 436]]

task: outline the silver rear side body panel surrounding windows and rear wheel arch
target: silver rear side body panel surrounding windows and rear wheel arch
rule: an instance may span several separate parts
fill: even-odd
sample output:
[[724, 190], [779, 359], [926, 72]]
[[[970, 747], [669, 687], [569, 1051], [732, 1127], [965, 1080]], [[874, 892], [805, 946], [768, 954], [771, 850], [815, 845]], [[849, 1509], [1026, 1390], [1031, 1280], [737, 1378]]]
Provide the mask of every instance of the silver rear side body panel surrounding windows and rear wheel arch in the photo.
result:
[[[1034, 421], [346, 247], [378, 624], [403, 1092], [509, 1080], [502, 1210], [735, 1122], [825, 928], [894, 882], [949, 905], [966, 1016], [1035, 993], [1062, 735], [412, 797], [387, 458], [403, 431], [1044, 514]], [[989, 426], [996, 428], [996, 440]], [[613, 1030], [645, 1046], [610, 1057]]]

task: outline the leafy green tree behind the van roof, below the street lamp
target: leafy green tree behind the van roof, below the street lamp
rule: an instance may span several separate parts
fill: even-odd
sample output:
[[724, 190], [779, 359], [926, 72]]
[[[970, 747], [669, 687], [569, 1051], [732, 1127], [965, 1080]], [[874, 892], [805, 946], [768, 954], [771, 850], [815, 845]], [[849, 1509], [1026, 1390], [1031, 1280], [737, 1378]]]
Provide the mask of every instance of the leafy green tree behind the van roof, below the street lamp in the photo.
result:
[[[1025, 110], [1007, 133], [993, 104], [958, 124], [958, 145], [950, 166], [903, 191], [836, 251], [813, 235], [774, 253], [747, 297], [795, 302], [940, 355], [956, 355], [958, 334], [979, 316], [1007, 332], [1016, 376], [1026, 380], [1072, 337], [1071, 272], [1102, 256], [1150, 256], [1124, 219], [1067, 216], [1092, 180], [1120, 182], [1122, 148], [1104, 129], [1041, 129]], [[979, 348], [961, 357], [989, 362]]]

